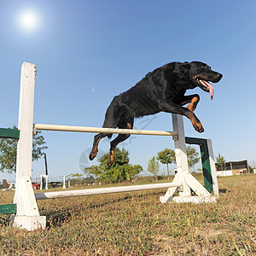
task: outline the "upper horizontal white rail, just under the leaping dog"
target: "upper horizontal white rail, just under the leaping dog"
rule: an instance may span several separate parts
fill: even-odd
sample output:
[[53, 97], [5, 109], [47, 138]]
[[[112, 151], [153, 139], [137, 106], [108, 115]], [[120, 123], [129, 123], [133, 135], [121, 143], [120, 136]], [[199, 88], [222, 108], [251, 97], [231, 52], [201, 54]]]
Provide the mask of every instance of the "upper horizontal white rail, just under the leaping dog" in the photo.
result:
[[172, 136], [177, 137], [175, 131], [149, 131], [149, 130], [130, 130], [130, 129], [115, 129], [115, 128], [100, 128], [100, 127], [85, 127], [72, 125], [43, 125], [35, 124], [34, 131], [77, 131], [77, 132], [99, 132], [99, 133], [118, 133], [118, 134], [137, 134], [137, 135], [157, 135], [157, 136]]

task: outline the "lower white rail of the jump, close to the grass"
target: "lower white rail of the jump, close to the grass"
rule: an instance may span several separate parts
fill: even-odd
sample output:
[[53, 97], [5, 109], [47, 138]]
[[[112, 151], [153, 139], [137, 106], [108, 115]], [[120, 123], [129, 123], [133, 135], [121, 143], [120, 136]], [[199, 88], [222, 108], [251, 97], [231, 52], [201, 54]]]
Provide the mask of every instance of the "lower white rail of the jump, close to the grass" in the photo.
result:
[[181, 186], [182, 186], [182, 183], [155, 183], [155, 184], [123, 186], [123, 187], [113, 187], [113, 188], [103, 188], [103, 189], [79, 189], [79, 190], [36, 193], [35, 197], [36, 197], [36, 200], [44, 200], [44, 199], [55, 199], [55, 198], [62, 198], [62, 197], [131, 192], [131, 191], [148, 190], [148, 189], [166, 189], [166, 188], [181, 187]]

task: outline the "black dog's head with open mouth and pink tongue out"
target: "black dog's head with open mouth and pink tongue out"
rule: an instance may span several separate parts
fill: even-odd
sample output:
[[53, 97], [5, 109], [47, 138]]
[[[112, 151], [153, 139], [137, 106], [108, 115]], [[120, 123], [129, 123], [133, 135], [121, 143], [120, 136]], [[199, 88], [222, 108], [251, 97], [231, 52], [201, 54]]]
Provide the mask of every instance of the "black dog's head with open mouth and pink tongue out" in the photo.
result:
[[200, 61], [177, 63], [175, 71], [186, 79], [188, 82], [188, 89], [200, 87], [202, 90], [210, 92], [211, 99], [213, 98], [213, 86], [209, 82], [218, 83], [222, 78], [222, 74], [212, 71], [211, 67]]

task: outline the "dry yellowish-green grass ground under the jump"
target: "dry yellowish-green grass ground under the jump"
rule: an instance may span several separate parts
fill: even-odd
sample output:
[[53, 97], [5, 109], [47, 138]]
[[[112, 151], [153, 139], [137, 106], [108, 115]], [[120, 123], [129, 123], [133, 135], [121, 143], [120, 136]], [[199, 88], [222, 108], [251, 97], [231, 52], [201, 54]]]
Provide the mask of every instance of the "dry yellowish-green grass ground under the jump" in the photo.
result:
[[255, 255], [256, 175], [218, 185], [213, 204], [162, 205], [166, 189], [38, 201], [47, 229], [15, 230], [2, 215], [0, 255]]

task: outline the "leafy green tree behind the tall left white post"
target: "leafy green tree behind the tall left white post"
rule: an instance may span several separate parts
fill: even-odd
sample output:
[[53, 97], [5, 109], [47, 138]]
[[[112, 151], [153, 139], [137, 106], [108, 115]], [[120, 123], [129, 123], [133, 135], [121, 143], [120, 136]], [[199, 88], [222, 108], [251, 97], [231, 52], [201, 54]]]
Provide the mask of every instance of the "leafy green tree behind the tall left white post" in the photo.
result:
[[[13, 129], [17, 129], [16, 126]], [[0, 138], [0, 172], [16, 172], [17, 139]], [[41, 131], [33, 135], [32, 160], [40, 159], [47, 148]]]

